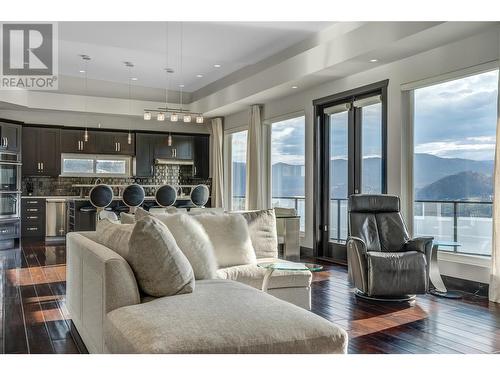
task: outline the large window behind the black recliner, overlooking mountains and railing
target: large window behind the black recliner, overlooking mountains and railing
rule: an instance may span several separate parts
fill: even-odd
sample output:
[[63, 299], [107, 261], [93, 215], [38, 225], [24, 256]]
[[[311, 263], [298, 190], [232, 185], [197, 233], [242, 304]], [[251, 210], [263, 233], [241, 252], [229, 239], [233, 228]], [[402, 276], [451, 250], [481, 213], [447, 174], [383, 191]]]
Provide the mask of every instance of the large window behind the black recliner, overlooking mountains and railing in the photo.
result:
[[414, 90], [414, 232], [490, 255], [498, 70]]

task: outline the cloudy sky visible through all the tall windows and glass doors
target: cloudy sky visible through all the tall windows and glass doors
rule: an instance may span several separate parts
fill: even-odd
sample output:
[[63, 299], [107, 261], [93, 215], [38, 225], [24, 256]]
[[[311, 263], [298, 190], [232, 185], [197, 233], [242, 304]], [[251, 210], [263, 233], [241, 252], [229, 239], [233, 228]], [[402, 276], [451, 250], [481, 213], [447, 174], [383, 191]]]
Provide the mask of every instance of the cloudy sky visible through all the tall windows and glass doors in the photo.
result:
[[[415, 152], [493, 160], [498, 70], [415, 90]], [[380, 156], [381, 106], [363, 108], [363, 157]], [[271, 162], [304, 164], [305, 118], [272, 124]], [[331, 159], [347, 158], [346, 112], [332, 115]], [[246, 160], [246, 132], [233, 135], [233, 160]]]

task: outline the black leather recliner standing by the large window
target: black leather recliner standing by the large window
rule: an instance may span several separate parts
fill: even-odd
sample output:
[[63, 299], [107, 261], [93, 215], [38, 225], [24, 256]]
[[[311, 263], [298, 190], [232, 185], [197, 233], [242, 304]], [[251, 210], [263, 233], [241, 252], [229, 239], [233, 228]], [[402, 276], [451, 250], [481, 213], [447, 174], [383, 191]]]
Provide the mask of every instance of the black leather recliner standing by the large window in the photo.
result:
[[357, 295], [406, 300], [426, 293], [432, 241], [432, 237], [410, 239], [399, 197], [349, 197], [347, 261]]

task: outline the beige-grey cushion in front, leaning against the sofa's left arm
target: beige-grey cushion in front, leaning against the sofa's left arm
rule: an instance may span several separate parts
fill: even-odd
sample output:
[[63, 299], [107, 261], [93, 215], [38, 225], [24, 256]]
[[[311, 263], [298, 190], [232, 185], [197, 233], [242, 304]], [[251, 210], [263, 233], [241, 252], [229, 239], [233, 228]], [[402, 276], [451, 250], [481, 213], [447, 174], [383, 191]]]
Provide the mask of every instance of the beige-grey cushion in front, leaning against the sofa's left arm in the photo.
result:
[[125, 258], [142, 291], [162, 297], [191, 293], [194, 273], [168, 228], [154, 217], [137, 221]]

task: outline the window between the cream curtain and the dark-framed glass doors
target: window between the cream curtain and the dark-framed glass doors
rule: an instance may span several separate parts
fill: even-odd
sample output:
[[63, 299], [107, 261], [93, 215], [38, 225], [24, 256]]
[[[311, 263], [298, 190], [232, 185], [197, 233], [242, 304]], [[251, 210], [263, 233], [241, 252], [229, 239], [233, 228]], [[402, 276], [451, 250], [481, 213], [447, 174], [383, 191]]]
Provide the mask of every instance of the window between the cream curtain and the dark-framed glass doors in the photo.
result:
[[305, 230], [305, 117], [271, 124], [271, 200], [294, 208]]

